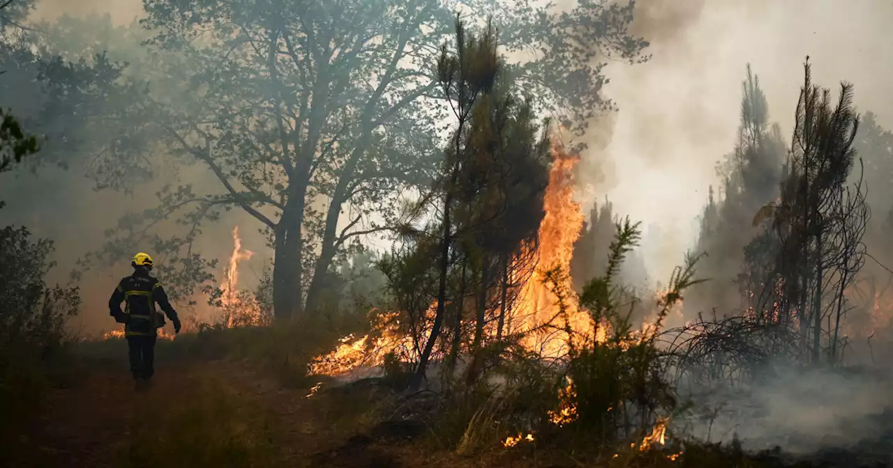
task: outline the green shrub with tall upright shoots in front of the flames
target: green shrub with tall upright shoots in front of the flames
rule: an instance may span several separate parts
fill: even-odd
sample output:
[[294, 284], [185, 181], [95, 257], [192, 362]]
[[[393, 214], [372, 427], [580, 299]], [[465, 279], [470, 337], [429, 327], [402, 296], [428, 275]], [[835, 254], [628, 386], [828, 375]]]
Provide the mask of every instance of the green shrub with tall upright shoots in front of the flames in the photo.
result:
[[[638, 223], [632, 224], [629, 218], [617, 224], [605, 274], [589, 281], [580, 296], [580, 308], [592, 316], [597, 339], [570, 343], [562, 404], [573, 410], [565, 412], [561, 423], [607, 445], [650, 430], [656, 417], [668, 417], [676, 410], [678, 400], [655, 336], [667, 313], [682, 299], [682, 291], [701, 283], [694, 278], [697, 258], [687, 257], [685, 266], [674, 270], [669, 289], [657, 304], [654, 323], [634, 331], [625, 310], [629, 306], [621, 301], [625, 288], [616, 282], [616, 275], [639, 235]], [[566, 315], [568, 305], [561, 295], [559, 306]]]

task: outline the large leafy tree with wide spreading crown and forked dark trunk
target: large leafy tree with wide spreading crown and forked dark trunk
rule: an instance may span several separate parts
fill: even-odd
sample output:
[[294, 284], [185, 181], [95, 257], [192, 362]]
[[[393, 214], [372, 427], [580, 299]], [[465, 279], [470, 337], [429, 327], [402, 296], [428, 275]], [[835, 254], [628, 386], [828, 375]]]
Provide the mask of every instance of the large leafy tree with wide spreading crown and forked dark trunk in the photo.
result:
[[[452, 26], [438, 0], [146, 0], [154, 50], [183, 62], [178, 99], [138, 106], [176, 156], [208, 168], [219, 190], [161, 193], [153, 218], [191, 224], [242, 209], [270, 236], [276, 316], [318, 308], [332, 262], [390, 224], [395, 194], [427, 182], [447, 106], [433, 63]], [[456, 6], [456, 5], [452, 5]], [[609, 55], [638, 60], [632, 4], [467, 2], [495, 15], [505, 49], [535, 52], [511, 67], [574, 131], [610, 108], [599, 91]], [[105, 161], [109, 170], [143, 168]], [[181, 244], [180, 244], [181, 245]], [[171, 243], [176, 249], [177, 243]], [[161, 246], [159, 246], [161, 247]]]

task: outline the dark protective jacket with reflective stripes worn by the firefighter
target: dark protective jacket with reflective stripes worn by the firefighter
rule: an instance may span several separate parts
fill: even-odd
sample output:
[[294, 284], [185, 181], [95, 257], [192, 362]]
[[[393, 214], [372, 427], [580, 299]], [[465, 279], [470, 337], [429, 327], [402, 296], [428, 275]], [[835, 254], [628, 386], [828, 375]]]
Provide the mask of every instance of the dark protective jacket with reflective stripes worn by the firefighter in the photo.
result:
[[[124, 302], [124, 310], [121, 310], [121, 302]], [[154, 336], [164, 323], [163, 316], [155, 309], [155, 303], [171, 322], [177, 323], [177, 312], [171, 307], [162, 283], [149, 275], [146, 269], [137, 268], [133, 275], [121, 278], [109, 299], [109, 313], [125, 324], [125, 336]]]

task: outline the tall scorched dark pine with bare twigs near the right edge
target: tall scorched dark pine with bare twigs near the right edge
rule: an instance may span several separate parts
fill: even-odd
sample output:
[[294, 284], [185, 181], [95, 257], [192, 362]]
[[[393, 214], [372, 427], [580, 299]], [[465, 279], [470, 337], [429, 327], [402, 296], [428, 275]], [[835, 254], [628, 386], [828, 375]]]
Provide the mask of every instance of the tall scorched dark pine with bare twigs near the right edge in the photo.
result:
[[765, 322], [796, 324], [797, 354], [818, 362], [834, 361], [847, 288], [864, 264], [862, 237], [869, 218], [862, 178], [851, 186], [859, 116], [852, 108], [853, 87], [840, 86], [837, 103], [830, 90], [814, 86], [810, 65], [797, 102], [787, 175], [780, 201], [766, 205], [755, 224], [768, 219], [766, 242], [774, 259], [765, 266], [767, 281], [757, 314]]

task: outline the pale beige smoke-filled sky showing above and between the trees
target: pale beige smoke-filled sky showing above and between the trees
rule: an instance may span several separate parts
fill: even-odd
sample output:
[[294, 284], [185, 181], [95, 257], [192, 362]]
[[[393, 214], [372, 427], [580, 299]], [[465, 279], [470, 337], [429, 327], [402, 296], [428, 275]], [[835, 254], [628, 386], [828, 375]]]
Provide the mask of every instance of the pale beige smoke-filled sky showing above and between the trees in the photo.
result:
[[[132, 21], [139, 0], [43, 0], [38, 14], [109, 12]], [[658, 225], [647, 237], [652, 275], [663, 278], [697, 234], [714, 162], [730, 152], [739, 122], [740, 82], [750, 62], [769, 99], [771, 117], [788, 135], [802, 62], [814, 81], [855, 84], [860, 111], [893, 127], [886, 45], [893, 33], [888, 0], [639, 0], [635, 29], [652, 41], [644, 65], [612, 64], [606, 94], [620, 107], [600, 128], [601, 147], [586, 155], [585, 203], [607, 195], [615, 212]], [[606, 146], [605, 146], [606, 144]], [[588, 207], [584, 206], [588, 212]]]

